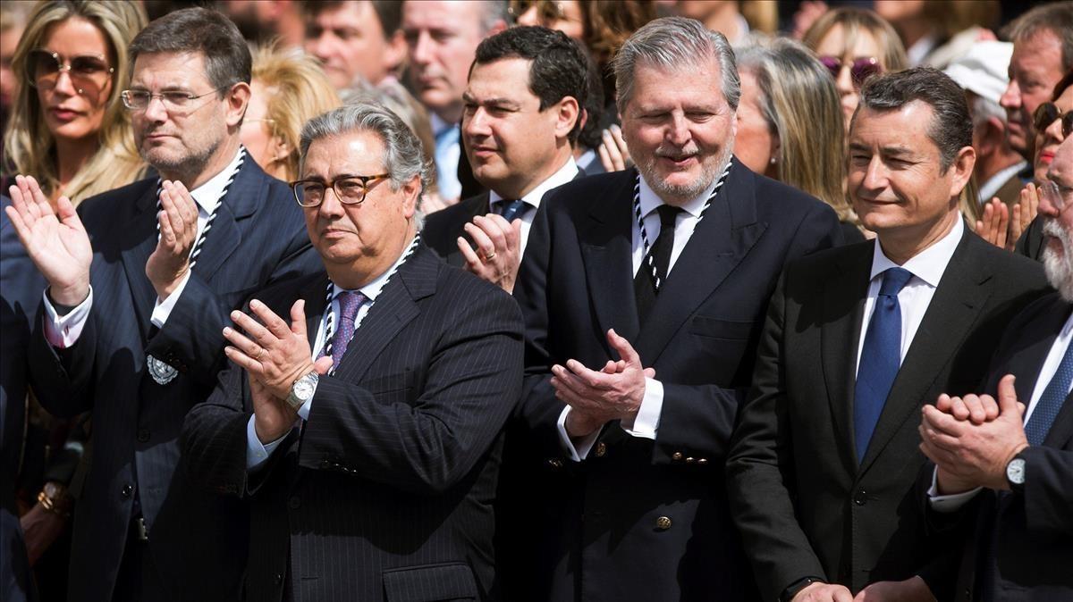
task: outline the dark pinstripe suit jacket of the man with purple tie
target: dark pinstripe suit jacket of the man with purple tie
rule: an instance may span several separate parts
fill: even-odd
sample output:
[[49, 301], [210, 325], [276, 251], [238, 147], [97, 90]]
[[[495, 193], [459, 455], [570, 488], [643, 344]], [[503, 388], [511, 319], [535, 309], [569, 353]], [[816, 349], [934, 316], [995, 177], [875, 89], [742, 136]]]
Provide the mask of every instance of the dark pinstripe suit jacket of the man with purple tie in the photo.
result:
[[[258, 298], [324, 312], [325, 274]], [[191, 410], [191, 476], [250, 494], [250, 600], [484, 600], [501, 431], [521, 389], [521, 316], [505, 292], [427, 247], [362, 321], [309, 420], [248, 479], [247, 376], [232, 366]]]

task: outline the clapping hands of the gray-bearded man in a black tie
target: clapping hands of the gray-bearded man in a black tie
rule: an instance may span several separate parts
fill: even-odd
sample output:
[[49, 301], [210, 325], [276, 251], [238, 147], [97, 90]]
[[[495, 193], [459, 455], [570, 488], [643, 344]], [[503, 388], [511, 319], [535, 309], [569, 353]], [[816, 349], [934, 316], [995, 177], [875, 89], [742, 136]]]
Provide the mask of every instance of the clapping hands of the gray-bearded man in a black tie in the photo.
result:
[[589, 435], [611, 420], [632, 421], [645, 397], [645, 378], [656, 377], [614, 329], [607, 331], [607, 342], [621, 359], [608, 361], [599, 372], [577, 360], [552, 366], [555, 396], [571, 407], [565, 424], [571, 437]]

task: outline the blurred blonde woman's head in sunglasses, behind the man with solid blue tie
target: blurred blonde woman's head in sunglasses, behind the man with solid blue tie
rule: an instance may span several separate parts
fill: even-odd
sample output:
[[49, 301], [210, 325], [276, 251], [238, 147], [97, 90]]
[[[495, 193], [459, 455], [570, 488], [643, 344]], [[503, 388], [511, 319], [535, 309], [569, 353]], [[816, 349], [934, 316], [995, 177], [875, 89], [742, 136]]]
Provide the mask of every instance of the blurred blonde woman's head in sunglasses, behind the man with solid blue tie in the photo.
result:
[[827, 11], [805, 32], [808, 46], [835, 78], [842, 101], [846, 132], [861, 99], [861, 85], [871, 75], [909, 66], [906, 48], [891, 24], [872, 11]]

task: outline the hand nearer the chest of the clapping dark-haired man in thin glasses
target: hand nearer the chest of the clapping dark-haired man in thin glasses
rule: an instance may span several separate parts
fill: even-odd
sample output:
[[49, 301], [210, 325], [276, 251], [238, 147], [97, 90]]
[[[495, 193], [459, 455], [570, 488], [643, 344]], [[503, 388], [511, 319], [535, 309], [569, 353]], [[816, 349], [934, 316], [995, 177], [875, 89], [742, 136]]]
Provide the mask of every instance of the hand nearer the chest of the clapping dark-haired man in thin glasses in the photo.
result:
[[190, 251], [197, 238], [197, 204], [182, 182], [164, 180], [161, 184], [157, 223], [160, 240], [145, 264], [145, 275], [163, 301], [190, 269]]

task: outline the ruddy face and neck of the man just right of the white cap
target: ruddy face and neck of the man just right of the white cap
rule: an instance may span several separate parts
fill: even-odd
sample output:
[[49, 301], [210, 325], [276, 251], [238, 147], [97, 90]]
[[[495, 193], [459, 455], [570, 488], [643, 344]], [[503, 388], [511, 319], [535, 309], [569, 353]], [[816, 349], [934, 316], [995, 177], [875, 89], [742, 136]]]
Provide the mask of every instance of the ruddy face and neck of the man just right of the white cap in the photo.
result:
[[1050, 100], [1055, 85], [1062, 78], [1061, 42], [1054, 32], [1043, 30], [1013, 45], [1010, 58], [1010, 86], [999, 104], [1006, 111], [1010, 146], [1032, 160], [1035, 108]]

